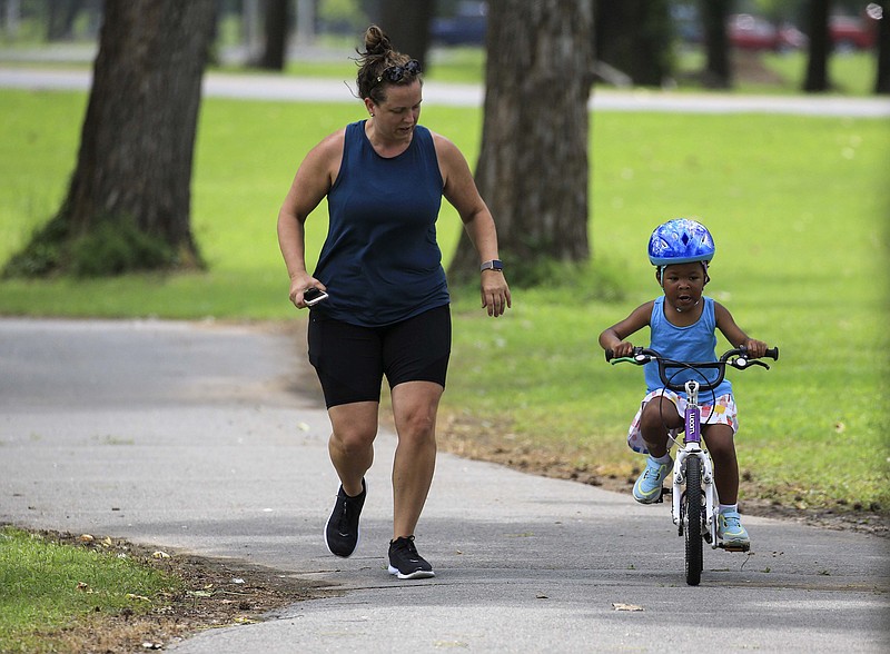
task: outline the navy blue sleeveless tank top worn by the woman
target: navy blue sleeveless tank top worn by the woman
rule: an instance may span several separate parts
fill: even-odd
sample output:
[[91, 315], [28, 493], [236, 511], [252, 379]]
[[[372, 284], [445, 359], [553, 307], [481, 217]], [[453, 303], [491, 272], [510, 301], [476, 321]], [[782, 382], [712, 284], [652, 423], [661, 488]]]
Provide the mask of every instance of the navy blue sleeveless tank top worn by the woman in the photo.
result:
[[365, 120], [346, 126], [343, 162], [327, 195], [328, 234], [314, 276], [329, 294], [313, 310], [380, 327], [449, 301], [436, 219], [442, 174], [419, 125], [408, 148], [380, 157]]

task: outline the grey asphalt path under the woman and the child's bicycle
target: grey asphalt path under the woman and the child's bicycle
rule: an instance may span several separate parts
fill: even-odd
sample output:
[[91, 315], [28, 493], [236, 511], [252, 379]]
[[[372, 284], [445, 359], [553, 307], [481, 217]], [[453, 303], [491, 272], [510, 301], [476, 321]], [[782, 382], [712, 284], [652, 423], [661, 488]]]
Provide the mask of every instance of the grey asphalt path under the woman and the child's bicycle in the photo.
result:
[[752, 553], [705, 549], [689, 587], [668, 506], [447, 454], [417, 529], [437, 576], [400, 582], [385, 563], [386, 432], [362, 542], [334, 557], [322, 531], [337, 479], [299, 321], [0, 319], [0, 522], [343, 591], [178, 654], [889, 650], [887, 539], [748, 517]]

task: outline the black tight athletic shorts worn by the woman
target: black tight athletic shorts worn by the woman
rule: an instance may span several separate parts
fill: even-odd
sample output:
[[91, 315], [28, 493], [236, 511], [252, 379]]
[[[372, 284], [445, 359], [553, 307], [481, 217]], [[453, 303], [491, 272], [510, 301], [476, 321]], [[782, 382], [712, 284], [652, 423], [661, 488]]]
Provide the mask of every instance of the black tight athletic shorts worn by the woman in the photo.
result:
[[452, 315], [445, 305], [386, 327], [359, 327], [309, 315], [309, 363], [315, 366], [328, 408], [380, 402], [384, 375], [389, 388], [405, 382], [445, 387], [452, 350]]

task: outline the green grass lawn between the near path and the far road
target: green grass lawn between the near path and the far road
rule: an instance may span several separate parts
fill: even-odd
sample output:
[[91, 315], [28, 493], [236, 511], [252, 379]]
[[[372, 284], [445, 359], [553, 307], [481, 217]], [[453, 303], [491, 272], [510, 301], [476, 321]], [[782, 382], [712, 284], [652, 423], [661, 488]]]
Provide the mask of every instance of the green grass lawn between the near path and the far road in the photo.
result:
[[[0, 261], [58, 208], [85, 103], [83, 93], [0, 91]], [[305, 319], [287, 301], [277, 210], [306, 151], [359, 109], [206, 100], [192, 225], [209, 270], [6, 280], [0, 315]], [[422, 120], [475, 162], [478, 110], [431, 106]], [[699, 216], [718, 245], [709, 294], [782, 353], [772, 370], [733, 377], [743, 496], [886, 511], [887, 120], [597, 112], [592, 128], [592, 269], [514, 289], [514, 309], [498, 320], [483, 317], [474, 289], [453, 289], [443, 414], [580, 470], [639, 466], [624, 432], [642, 373], [606, 365], [596, 337], [657, 294], [645, 257], [652, 228]], [[446, 254], [458, 232], [454, 211], [443, 210]], [[324, 235], [322, 208], [309, 220], [309, 252]], [[507, 275], [521, 265], [507, 261]], [[615, 288], [619, 299], [603, 299]]]

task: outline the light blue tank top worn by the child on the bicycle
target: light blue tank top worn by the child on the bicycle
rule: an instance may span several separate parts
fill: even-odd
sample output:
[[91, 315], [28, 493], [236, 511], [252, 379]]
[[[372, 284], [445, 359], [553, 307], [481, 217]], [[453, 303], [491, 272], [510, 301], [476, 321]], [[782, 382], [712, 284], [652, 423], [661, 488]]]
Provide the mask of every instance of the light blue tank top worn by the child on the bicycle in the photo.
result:
[[[689, 327], [678, 327], [664, 316], [664, 296], [657, 298], [652, 307], [652, 316], [649, 319], [652, 331], [650, 347], [676, 361], [715, 361], [716, 318], [714, 317], [714, 300], [710, 297], [702, 297], [702, 301], [704, 303], [702, 315], [695, 324]], [[709, 380], [716, 379], [719, 375], [718, 370], [702, 370], [702, 374]], [[659, 377], [659, 367], [655, 361], [644, 366], [644, 375], [646, 388], [650, 393], [664, 388], [664, 384]], [[704, 383], [701, 375], [691, 370], [670, 368], [668, 375], [678, 384], [683, 384], [689, 379], [695, 379], [700, 384]], [[714, 395], [711, 395], [710, 390], [700, 393], [699, 404], [712, 405], [714, 397], [731, 394], [732, 384], [728, 379], [723, 379], [713, 393]], [[686, 396], [685, 393], [680, 395]]]

